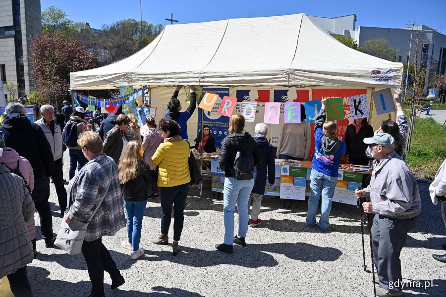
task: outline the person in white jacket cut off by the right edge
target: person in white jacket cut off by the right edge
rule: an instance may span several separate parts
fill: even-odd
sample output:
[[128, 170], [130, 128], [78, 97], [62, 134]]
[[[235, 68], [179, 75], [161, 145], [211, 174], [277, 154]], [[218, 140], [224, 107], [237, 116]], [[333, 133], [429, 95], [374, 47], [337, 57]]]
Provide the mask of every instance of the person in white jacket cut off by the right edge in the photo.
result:
[[[438, 169], [434, 182], [429, 186], [429, 194], [435, 205], [437, 205], [438, 201], [442, 203], [442, 216], [446, 226], [446, 160]], [[443, 244], [442, 247], [446, 249], [446, 244]], [[432, 257], [446, 263], [446, 253], [444, 255], [433, 254]]]

